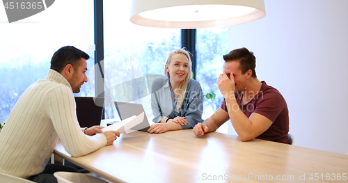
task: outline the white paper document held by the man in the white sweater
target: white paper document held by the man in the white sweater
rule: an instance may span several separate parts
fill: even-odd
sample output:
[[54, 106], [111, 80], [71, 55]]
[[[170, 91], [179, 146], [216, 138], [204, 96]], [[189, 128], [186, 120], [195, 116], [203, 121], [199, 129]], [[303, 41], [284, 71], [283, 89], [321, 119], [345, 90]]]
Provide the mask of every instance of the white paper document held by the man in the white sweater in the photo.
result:
[[144, 120], [144, 113], [139, 114], [139, 116], [132, 116], [125, 120], [122, 120], [120, 122], [115, 122], [113, 125], [109, 125], [107, 127], [102, 128], [103, 132], [106, 131], [117, 131], [122, 134], [123, 132], [134, 132], [134, 130], [131, 130], [132, 127], [135, 127], [136, 125], [139, 125], [139, 123], [143, 122]]

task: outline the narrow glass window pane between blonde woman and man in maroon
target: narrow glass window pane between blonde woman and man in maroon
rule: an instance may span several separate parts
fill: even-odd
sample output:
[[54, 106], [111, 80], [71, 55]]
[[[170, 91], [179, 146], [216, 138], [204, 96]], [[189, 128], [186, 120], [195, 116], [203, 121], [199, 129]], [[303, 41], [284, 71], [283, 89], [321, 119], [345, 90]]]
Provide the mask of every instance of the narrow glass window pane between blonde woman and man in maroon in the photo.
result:
[[[215, 99], [204, 97], [203, 120], [212, 116], [223, 101], [223, 95], [216, 84], [216, 79], [223, 72], [223, 55], [228, 53], [228, 28], [197, 29], [197, 81], [202, 86], [203, 95], [214, 92]], [[227, 123], [219, 132], [227, 133]]]

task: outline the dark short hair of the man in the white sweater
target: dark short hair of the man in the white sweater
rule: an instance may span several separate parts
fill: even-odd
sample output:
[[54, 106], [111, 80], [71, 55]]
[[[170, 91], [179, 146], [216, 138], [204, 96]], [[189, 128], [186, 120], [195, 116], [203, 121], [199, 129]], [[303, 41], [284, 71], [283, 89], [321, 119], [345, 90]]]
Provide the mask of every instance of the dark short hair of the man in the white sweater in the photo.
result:
[[88, 54], [76, 47], [66, 46], [58, 49], [51, 59], [51, 69], [56, 72], [61, 72], [63, 68], [71, 64], [73, 67], [77, 65], [81, 58], [89, 59]]

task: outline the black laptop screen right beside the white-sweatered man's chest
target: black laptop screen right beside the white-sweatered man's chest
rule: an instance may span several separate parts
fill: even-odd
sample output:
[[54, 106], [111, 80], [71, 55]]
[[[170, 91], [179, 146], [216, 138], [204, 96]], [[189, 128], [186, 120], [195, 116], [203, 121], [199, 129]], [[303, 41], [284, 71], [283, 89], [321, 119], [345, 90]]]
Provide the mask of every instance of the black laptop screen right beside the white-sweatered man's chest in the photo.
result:
[[104, 100], [104, 97], [75, 97], [76, 115], [80, 127], [100, 125]]

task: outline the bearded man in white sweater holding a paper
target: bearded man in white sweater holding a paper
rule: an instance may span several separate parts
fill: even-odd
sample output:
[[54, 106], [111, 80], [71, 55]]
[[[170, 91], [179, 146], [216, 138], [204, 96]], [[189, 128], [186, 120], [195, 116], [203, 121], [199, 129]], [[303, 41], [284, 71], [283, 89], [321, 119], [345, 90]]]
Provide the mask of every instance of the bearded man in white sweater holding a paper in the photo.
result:
[[8, 116], [0, 133], [0, 172], [35, 182], [51, 182], [42, 174], [56, 142], [73, 157], [111, 145], [118, 132], [102, 133], [102, 127], [81, 129], [73, 93], [79, 93], [86, 77], [88, 54], [62, 47], [52, 56], [45, 79], [27, 88]]

